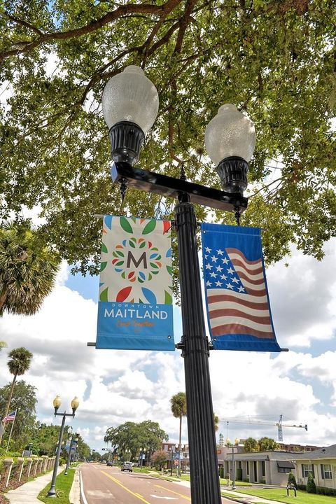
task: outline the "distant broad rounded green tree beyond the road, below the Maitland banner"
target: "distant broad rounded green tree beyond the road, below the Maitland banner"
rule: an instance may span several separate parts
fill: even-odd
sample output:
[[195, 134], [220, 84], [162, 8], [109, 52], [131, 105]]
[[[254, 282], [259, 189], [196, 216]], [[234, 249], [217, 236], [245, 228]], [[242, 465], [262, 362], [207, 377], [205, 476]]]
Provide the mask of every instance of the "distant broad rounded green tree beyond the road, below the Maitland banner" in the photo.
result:
[[162, 447], [162, 441], [168, 440], [168, 435], [158, 422], [144, 420], [140, 423], [125, 422], [118, 427], [106, 430], [105, 442], [111, 442], [114, 453], [123, 455], [130, 450], [130, 460], [137, 458], [140, 449], [153, 452]]

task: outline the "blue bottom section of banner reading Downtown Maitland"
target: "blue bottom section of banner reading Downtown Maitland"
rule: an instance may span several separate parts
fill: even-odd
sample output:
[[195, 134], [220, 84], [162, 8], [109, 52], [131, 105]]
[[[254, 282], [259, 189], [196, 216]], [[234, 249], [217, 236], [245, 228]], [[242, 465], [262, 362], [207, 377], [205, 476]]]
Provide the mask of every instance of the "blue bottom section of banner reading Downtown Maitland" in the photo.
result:
[[174, 351], [173, 305], [99, 301], [96, 349]]

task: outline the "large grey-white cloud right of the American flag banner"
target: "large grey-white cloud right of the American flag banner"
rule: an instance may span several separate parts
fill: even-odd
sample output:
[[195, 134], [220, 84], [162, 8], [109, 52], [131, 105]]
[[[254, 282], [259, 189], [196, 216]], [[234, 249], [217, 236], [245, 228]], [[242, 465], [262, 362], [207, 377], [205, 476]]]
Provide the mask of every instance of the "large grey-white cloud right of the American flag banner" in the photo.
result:
[[293, 250], [267, 269], [274, 327], [281, 346], [307, 346], [331, 339], [336, 330], [336, 239], [330, 240], [323, 261]]

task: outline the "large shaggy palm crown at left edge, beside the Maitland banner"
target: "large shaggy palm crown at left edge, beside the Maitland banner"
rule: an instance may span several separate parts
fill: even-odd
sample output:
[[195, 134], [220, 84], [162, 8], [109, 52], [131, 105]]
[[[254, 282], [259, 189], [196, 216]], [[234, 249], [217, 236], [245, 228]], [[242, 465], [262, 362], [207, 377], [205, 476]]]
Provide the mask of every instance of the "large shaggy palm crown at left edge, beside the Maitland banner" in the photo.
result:
[[55, 283], [57, 253], [45, 246], [29, 221], [0, 228], [0, 316], [4, 311], [31, 315], [41, 307]]

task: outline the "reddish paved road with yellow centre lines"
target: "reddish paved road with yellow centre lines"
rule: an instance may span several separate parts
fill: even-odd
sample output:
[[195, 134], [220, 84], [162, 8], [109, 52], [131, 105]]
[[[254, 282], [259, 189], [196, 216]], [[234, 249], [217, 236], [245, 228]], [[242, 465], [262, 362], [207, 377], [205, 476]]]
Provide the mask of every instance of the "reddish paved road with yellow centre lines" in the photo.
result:
[[[121, 472], [120, 468], [87, 463], [80, 467], [87, 504], [186, 504], [190, 489], [141, 472]], [[232, 504], [223, 498], [222, 504]]]

